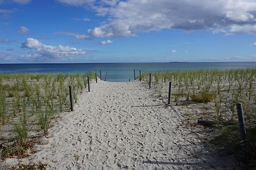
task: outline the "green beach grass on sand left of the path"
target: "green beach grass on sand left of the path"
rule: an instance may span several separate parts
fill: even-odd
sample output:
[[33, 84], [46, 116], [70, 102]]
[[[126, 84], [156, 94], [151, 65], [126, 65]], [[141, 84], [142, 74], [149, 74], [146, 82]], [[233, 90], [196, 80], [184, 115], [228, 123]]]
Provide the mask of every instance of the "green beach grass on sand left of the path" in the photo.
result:
[[[70, 110], [68, 86], [72, 85], [74, 101], [87, 85], [88, 74], [0, 74], [0, 150], [1, 159], [26, 153], [33, 126], [48, 135], [52, 118]], [[12, 134], [5, 138], [3, 129]], [[9, 128], [8, 128], [9, 127]], [[37, 129], [38, 129], [37, 128]]]

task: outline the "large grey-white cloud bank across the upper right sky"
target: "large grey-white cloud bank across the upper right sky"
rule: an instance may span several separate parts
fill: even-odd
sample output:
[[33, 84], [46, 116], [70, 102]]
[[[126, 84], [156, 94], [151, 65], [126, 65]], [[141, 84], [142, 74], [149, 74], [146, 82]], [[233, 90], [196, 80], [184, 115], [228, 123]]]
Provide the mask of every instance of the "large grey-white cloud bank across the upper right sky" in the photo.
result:
[[256, 34], [255, 0], [58, 0], [89, 6], [107, 22], [88, 30], [92, 38], [134, 36], [161, 29]]

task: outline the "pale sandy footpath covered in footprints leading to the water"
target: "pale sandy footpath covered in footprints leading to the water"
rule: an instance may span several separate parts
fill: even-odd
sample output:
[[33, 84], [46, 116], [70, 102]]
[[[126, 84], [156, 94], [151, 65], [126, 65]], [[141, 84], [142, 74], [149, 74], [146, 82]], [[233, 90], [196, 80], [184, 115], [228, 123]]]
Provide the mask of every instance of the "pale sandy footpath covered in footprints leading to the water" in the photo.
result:
[[182, 113], [142, 82], [98, 81], [26, 162], [49, 169], [233, 169], [204, 151]]

